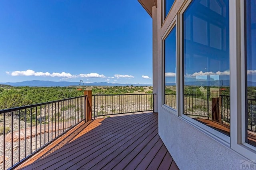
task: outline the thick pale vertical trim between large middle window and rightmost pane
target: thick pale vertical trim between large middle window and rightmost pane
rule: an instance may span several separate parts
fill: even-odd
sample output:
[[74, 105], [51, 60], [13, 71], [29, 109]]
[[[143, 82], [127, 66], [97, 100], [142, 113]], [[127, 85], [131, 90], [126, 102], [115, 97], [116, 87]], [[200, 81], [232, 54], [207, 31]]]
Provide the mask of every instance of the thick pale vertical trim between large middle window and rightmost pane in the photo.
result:
[[[230, 135], [231, 148], [250, 160], [256, 159], [256, 147], [245, 142], [245, 37], [244, 0], [230, 0]], [[232, 71], [232, 72], [231, 72]], [[237, 73], [237, 74], [234, 74]], [[234, 86], [236, 85], [236, 86]]]

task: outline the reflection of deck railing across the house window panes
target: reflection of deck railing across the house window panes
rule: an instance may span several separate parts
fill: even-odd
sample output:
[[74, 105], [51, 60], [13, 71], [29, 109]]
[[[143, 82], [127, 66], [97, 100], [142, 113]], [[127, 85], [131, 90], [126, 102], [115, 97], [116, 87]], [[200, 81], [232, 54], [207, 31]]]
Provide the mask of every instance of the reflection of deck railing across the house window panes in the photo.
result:
[[[216, 107], [213, 108], [213, 100], [218, 98]], [[176, 95], [165, 95], [166, 105], [176, 107]], [[248, 99], [248, 130], [256, 132], [256, 99]], [[218, 91], [200, 94], [184, 95], [184, 114], [193, 118], [212, 119], [213, 109], [221, 115], [222, 123], [230, 123], [230, 96], [220, 95]]]

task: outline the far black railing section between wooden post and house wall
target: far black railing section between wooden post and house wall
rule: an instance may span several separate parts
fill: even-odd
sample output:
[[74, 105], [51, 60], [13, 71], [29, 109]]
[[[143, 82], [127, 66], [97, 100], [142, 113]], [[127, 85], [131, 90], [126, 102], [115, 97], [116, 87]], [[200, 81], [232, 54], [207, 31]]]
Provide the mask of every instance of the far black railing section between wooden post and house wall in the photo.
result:
[[154, 110], [154, 94], [92, 95], [95, 117]]

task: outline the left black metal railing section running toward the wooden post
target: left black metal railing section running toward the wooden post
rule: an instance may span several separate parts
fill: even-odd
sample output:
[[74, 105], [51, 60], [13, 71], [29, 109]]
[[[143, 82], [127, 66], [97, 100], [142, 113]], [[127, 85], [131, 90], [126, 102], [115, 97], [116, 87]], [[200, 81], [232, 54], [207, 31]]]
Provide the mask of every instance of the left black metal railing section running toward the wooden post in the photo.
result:
[[87, 96], [0, 111], [0, 169], [19, 162], [85, 120]]

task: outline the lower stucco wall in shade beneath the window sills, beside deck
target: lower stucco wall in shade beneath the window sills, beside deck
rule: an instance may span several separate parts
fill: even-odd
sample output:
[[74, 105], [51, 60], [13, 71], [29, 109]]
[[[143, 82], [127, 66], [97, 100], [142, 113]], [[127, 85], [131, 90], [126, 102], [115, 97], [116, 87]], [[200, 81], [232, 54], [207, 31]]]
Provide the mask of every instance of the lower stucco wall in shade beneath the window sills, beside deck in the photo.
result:
[[158, 129], [181, 170], [240, 169], [243, 158], [177, 116], [159, 107]]

